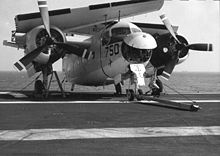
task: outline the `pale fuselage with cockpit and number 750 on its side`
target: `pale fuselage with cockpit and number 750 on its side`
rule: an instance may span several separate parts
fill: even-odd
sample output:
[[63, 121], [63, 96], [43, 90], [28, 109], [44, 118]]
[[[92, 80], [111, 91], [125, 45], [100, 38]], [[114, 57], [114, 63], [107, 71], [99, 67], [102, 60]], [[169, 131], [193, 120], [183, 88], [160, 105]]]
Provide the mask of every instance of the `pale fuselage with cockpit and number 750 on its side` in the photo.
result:
[[[133, 45], [129, 53], [129, 48], [124, 42], [126, 37], [133, 34], [140, 36], [146, 33], [136, 25], [127, 22], [106, 26], [91, 37], [91, 46], [87, 49], [92, 52], [89, 59], [76, 55], [66, 55], [63, 58], [63, 71], [67, 80], [73, 84], [86, 86], [107, 85], [114, 83], [116, 76], [128, 72], [130, 63], [149, 61], [150, 55], [146, 57], [145, 48], [135, 51], [136, 48]], [[136, 57], [143, 59], [136, 60]]]

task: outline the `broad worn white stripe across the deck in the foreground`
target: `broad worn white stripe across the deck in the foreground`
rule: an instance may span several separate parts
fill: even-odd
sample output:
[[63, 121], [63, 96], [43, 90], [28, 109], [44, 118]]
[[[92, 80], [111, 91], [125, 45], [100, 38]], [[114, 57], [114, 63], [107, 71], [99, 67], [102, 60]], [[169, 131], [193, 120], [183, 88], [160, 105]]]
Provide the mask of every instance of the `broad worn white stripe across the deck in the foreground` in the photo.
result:
[[1, 130], [0, 140], [34, 141], [207, 135], [220, 135], [220, 126]]

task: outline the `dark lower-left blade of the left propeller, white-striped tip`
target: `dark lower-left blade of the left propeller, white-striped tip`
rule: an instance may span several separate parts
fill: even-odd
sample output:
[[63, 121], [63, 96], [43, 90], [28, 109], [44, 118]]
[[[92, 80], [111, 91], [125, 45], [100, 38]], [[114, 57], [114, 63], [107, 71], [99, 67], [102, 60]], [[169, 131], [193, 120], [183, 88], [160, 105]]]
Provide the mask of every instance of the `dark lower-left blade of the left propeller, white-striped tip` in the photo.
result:
[[28, 53], [24, 57], [22, 57], [18, 62], [14, 64], [14, 66], [19, 70], [23, 70], [26, 66], [28, 66], [46, 47], [47, 45], [44, 44], [43, 46], [38, 47], [37, 49], [33, 50], [32, 52]]

